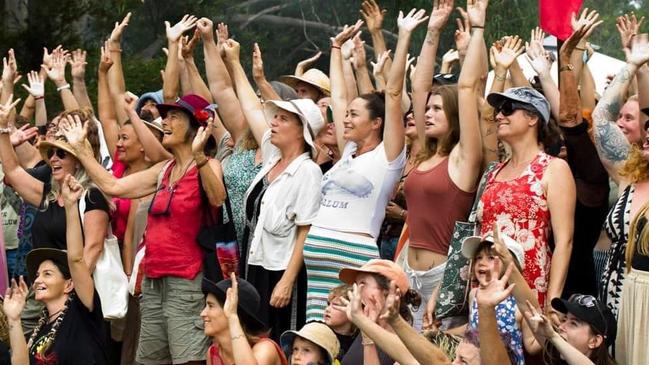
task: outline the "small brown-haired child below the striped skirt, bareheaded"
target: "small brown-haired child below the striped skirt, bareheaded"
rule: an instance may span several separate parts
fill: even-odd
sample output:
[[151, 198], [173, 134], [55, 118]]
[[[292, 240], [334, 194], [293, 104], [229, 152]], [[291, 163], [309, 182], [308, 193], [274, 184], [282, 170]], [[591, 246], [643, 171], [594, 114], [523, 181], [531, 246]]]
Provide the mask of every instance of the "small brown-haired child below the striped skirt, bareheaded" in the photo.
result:
[[341, 298], [347, 295], [347, 291], [351, 290], [351, 286], [347, 284], [338, 285], [331, 289], [329, 298], [327, 300], [327, 308], [325, 308], [324, 322], [336, 334], [338, 342], [340, 343], [340, 351], [338, 352], [338, 360], [341, 360], [347, 353], [347, 350], [356, 338], [356, 326], [347, 318], [345, 312], [337, 310], [335, 305], [342, 305]]

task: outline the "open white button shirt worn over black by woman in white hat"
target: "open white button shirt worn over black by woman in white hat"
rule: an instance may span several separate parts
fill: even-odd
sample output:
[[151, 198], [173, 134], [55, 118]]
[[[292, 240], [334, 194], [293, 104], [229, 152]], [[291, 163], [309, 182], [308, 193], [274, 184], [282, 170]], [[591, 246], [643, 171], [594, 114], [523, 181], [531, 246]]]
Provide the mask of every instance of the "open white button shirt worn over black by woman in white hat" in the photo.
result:
[[[270, 143], [270, 130], [262, 138], [261, 153], [264, 165], [248, 187], [244, 202], [281, 158], [279, 149]], [[249, 265], [286, 270], [295, 247], [297, 227], [310, 225], [318, 213], [321, 180], [320, 167], [305, 152], [270, 183], [261, 199], [257, 225], [250, 241]]]

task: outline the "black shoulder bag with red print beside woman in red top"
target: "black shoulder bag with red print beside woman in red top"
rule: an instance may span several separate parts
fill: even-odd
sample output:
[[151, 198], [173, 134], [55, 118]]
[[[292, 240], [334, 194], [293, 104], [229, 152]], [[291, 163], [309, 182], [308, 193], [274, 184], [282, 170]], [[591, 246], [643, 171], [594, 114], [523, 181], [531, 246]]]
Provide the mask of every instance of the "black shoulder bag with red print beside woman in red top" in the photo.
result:
[[[201, 198], [207, 202], [203, 181], [200, 174], [198, 176]], [[228, 214], [227, 222], [225, 222], [223, 212], [217, 219], [214, 219], [214, 210], [209, 204], [206, 204], [204, 209], [207, 211], [207, 223], [201, 227], [196, 237], [196, 241], [203, 250], [203, 276], [214, 282], [229, 279], [231, 273], [239, 276], [239, 244], [232, 218], [230, 198], [227, 196], [224, 205]]]

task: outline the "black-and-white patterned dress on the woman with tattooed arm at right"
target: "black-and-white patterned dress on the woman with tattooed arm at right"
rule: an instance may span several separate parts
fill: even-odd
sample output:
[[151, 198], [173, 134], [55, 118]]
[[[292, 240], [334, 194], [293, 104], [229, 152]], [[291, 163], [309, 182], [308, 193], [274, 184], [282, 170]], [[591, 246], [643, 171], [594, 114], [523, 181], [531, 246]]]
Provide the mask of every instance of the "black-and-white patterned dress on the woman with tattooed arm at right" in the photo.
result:
[[617, 318], [620, 300], [622, 299], [622, 283], [626, 269], [626, 244], [629, 241], [631, 225], [631, 203], [635, 185], [629, 185], [611, 208], [604, 229], [611, 239], [604, 274], [602, 275], [599, 297], [611, 309]]

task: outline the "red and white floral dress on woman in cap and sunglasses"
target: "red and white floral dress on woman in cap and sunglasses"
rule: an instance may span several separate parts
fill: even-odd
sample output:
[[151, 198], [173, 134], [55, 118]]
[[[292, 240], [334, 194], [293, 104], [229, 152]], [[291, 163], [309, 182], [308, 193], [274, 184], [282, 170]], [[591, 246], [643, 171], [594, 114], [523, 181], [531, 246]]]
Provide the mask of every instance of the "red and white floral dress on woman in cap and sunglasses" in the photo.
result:
[[522, 274], [536, 292], [542, 308], [548, 291], [552, 251], [548, 242], [550, 210], [541, 180], [552, 159], [539, 152], [518, 178], [496, 181], [496, 176], [509, 161], [501, 163], [487, 178], [487, 187], [478, 204], [483, 236], [498, 222], [500, 234], [523, 246], [525, 264]]

